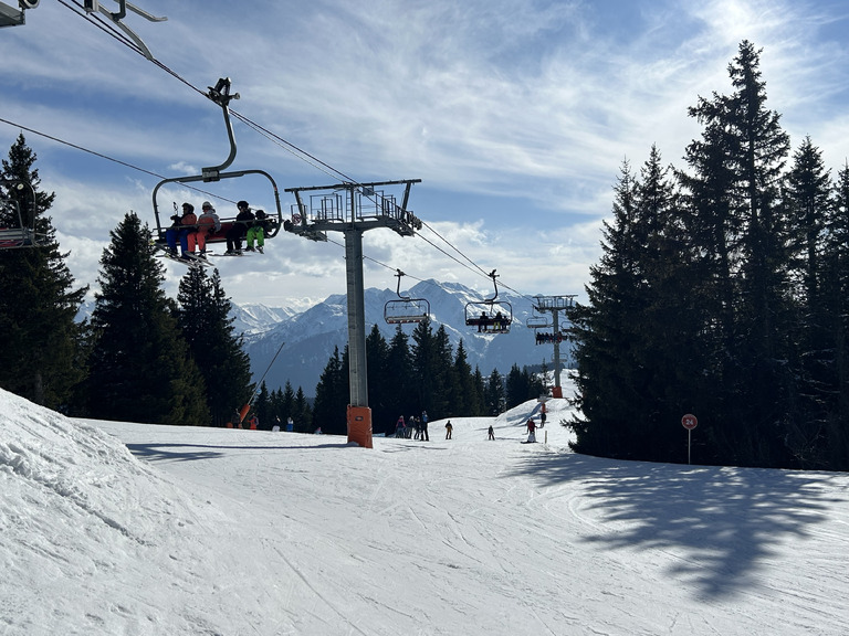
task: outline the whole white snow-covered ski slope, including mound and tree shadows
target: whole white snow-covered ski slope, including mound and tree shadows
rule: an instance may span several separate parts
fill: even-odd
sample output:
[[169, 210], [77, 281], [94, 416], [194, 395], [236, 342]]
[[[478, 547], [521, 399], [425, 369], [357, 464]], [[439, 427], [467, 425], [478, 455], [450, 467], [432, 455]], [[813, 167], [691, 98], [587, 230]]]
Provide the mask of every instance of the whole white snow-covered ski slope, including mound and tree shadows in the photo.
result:
[[849, 633], [849, 476], [581, 456], [548, 405], [361, 449], [0, 390], [0, 635]]

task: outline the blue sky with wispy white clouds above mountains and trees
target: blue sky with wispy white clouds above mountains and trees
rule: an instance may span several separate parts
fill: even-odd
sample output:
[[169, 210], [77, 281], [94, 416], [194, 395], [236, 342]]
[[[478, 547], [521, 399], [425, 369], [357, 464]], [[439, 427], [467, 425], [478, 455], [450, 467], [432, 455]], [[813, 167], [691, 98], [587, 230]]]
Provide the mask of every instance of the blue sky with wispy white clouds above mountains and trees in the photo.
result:
[[[11, 0], [6, 0], [9, 3]], [[117, 10], [114, 0], [102, 0]], [[63, 3], [64, 2], [64, 3]], [[81, 4], [81, 3], [80, 3]], [[421, 179], [410, 206], [423, 237], [522, 294], [584, 296], [623, 159], [657, 144], [683, 167], [699, 136], [686, 107], [731, 91], [744, 39], [763, 49], [769, 107], [794, 148], [809, 135], [836, 172], [849, 144], [849, 7], [841, 1], [137, 0], [167, 22], [125, 23], [196, 87], [229, 76], [238, 113], [358, 181]], [[220, 109], [76, 15], [44, 0], [0, 30], [0, 118], [164, 177], [229, 152]], [[238, 9], [235, 9], [238, 7]], [[234, 121], [231, 169], [263, 169], [282, 190], [337, 181]], [[3, 157], [19, 128], [0, 124]], [[81, 284], [96, 286], [108, 233], [134, 210], [153, 224], [158, 179], [24, 131], [54, 225]], [[272, 204], [249, 178], [206, 187]], [[209, 197], [166, 188], [159, 205]], [[333, 236], [340, 244], [342, 235]], [[420, 237], [366, 233], [365, 284], [491, 282]], [[266, 256], [221, 262], [237, 303], [303, 307], [345, 292], [344, 250], [281, 234]], [[182, 269], [168, 264], [170, 294]]]

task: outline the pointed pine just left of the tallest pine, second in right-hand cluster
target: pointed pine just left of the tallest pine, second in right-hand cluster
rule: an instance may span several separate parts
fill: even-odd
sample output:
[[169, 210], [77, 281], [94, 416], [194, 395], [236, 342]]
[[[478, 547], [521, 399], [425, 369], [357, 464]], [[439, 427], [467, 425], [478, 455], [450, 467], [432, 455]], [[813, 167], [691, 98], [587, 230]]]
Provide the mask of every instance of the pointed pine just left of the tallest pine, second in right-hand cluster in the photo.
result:
[[633, 340], [628, 374], [632, 416], [620, 423], [627, 432], [621, 453], [651, 460], [683, 459], [670, 425], [699, 406], [704, 367], [703, 282], [684, 224], [677, 182], [652, 147], [635, 191], [635, 251], [639, 299], [628, 308]]

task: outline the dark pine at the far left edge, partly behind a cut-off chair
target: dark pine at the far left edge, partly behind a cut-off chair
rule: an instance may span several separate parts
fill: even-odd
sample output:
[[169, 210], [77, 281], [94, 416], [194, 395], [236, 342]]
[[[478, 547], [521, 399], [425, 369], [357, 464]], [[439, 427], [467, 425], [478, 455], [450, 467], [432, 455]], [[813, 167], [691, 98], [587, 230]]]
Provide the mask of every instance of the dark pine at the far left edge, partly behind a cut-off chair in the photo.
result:
[[[39, 190], [35, 160], [21, 134], [0, 173], [0, 195], [17, 201], [24, 216], [34, 213], [36, 232], [48, 236], [41, 247], [0, 250], [0, 386], [67, 412], [85, 374], [82, 327], [74, 318], [87, 287], [72, 289], [74, 280], [64, 262], [67, 254], [60, 252], [55, 230], [45, 215], [55, 194]], [[18, 190], [17, 184], [24, 188]], [[0, 219], [0, 225], [10, 221], [18, 223], [17, 219]]]

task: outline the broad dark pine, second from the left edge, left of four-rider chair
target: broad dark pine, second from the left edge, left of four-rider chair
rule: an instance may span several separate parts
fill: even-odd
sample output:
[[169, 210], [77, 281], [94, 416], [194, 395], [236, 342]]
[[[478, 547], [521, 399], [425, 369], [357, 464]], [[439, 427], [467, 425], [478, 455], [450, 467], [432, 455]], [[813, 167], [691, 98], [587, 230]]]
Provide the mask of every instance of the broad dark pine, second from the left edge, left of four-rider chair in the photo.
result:
[[93, 417], [158, 424], [209, 423], [206, 386], [160, 284], [150, 231], [128, 213], [101, 258], [87, 380]]

